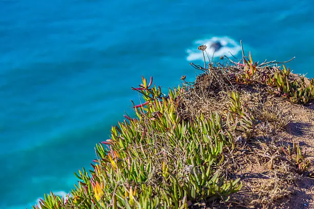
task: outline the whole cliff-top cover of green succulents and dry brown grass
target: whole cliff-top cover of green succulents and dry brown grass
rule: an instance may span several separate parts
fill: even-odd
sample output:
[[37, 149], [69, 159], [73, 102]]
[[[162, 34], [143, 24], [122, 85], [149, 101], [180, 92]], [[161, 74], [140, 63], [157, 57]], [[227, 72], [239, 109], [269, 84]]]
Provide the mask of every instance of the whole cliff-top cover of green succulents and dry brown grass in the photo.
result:
[[[280, 62], [254, 62], [243, 48], [241, 60], [214, 63], [206, 48], [199, 47], [204, 65], [191, 64], [201, 72], [194, 82], [182, 76], [165, 93], [142, 77], [132, 88], [140, 104], [96, 144], [92, 169], [75, 173], [66, 197], [50, 193], [33, 208], [289, 206], [297, 182], [314, 174], [313, 159], [289, 132], [289, 110], [314, 117], [314, 79]], [[312, 136], [314, 124], [306, 124]]]

